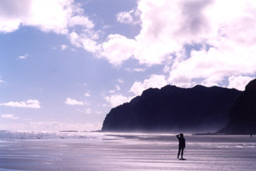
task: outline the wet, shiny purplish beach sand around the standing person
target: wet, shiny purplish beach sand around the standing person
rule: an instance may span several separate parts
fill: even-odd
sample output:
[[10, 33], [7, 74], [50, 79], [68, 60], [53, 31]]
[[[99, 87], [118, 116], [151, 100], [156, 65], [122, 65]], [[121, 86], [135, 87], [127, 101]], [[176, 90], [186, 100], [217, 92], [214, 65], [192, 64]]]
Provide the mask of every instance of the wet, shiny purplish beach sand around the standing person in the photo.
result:
[[[157, 133], [102, 133], [101, 138], [5, 139], [0, 170], [255, 170], [256, 138], [185, 134], [185, 161], [178, 140]], [[97, 137], [97, 133], [95, 133]]]

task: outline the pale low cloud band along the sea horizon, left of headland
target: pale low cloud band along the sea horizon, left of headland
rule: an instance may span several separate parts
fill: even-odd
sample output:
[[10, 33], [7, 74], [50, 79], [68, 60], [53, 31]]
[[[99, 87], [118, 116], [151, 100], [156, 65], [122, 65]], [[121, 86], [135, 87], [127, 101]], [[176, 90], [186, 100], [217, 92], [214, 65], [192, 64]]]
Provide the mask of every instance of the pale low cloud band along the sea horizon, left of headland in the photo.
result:
[[30, 121], [27, 123], [1, 124], [0, 129], [5, 130], [24, 130], [24, 131], [60, 131], [60, 130], [78, 130], [93, 131], [102, 129], [102, 123], [65, 123], [60, 121]]

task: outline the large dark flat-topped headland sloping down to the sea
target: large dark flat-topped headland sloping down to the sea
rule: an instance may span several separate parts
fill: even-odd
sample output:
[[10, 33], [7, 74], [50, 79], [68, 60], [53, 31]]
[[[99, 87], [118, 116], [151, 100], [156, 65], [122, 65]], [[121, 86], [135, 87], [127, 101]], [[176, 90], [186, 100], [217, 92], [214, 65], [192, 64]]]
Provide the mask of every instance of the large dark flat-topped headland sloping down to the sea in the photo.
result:
[[205, 87], [183, 89], [166, 85], [146, 89], [129, 103], [111, 109], [103, 131], [217, 131], [228, 123], [237, 89]]

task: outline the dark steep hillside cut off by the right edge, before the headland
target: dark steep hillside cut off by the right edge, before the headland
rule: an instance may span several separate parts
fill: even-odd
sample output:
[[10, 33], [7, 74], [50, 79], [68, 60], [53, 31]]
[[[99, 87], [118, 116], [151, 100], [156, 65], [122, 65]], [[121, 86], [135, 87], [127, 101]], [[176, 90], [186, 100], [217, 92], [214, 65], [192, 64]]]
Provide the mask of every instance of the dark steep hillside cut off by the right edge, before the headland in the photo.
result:
[[228, 125], [218, 133], [256, 134], [256, 79], [246, 85], [246, 90], [230, 109]]

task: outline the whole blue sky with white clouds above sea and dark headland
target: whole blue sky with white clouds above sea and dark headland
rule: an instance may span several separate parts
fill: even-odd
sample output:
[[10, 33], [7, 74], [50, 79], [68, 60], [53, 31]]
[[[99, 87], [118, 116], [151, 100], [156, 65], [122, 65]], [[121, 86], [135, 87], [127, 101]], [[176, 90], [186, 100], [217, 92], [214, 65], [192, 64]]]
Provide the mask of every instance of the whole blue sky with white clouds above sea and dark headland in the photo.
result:
[[102, 128], [150, 87], [244, 90], [254, 0], [1, 0], [0, 129]]

